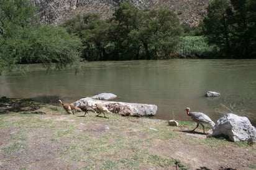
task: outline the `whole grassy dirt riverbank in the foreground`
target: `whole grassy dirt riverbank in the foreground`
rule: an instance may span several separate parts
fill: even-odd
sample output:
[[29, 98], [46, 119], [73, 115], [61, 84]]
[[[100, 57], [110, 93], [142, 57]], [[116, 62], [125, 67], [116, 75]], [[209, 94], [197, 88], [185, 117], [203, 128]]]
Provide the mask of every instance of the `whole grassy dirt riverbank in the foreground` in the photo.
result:
[[1, 169], [256, 168], [255, 145], [206, 138], [201, 127], [190, 133], [194, 122], [170, 127], [167, 120], [83, 117], [61, 105], [16, 102], [25, 107], [0, 114]]

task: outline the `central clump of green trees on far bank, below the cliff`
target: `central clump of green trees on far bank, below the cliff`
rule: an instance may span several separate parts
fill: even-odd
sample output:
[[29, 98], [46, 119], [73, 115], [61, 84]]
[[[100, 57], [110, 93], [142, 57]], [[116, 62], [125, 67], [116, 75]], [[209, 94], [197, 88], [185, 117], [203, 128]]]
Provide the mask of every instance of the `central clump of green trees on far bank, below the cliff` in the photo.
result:
[[81, 38], [86, 60], [169, 58], [181, 35], [173, 11], [140, 11], [129, 2], [117, 7], [111, 19], [84, 14], [62, 26]]

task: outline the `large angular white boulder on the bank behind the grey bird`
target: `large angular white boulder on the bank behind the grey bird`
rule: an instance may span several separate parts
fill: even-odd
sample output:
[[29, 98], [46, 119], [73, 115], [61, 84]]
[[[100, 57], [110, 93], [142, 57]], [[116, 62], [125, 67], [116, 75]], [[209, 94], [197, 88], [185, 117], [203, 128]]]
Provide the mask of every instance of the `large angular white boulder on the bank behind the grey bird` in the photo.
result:
[[226, 114], [217, 120], [211, 136], [227, 135], [231, 141], [247, 141], [252, 139], [256, 142], [256, 129], [247, 117], [235, 114]]

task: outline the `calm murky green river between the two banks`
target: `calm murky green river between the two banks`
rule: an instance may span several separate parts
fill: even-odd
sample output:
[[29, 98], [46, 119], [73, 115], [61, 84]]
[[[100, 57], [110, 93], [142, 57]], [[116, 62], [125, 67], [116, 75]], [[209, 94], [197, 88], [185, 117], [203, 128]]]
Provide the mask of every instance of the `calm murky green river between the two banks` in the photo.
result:
[[[207, 91], [220, 97], [204, 97]], [[101, 92], [116, 101], [156, 104], [153, 119], [190, 120], [185, 107], [214, 122], [233, 112], [255, 125], [256, 60], [139, 60], [86, 62], [73, 69], [50, 70], [30, 65], [29, 73], [0, 76], [0, 96], [74, 102]]]

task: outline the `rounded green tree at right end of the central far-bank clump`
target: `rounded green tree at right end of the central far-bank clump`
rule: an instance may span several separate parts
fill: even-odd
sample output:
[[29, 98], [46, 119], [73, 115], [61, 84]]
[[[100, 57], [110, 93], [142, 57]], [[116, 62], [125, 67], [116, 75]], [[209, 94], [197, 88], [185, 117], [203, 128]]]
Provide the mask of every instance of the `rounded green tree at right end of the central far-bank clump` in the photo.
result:
[[139, 39], [147, 59], [170, 57], [182, 33], [176, 14], [167, 9], [151, 10], [145, 13], [143, 23]]

